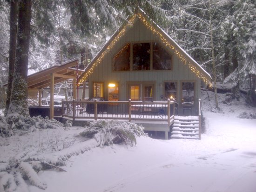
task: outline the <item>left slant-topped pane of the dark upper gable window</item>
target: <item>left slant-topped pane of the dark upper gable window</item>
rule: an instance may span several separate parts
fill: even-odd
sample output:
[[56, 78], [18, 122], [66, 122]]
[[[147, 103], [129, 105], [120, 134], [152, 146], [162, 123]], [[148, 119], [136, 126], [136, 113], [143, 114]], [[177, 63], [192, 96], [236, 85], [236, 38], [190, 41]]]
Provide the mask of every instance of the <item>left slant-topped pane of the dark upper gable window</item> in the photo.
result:
[[130, 44], [127, 43], [114, 57], [114, 71], [130, 70]]

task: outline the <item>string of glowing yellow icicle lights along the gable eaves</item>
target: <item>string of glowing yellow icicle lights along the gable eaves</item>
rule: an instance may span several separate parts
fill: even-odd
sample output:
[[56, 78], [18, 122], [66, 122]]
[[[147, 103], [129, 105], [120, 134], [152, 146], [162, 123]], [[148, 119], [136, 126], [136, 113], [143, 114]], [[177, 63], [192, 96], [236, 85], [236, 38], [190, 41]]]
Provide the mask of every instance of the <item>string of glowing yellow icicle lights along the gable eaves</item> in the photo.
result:
[[109, 51], [115, 46], [115, 43], [126, 33], [127, 28], [133, 26], [134, 21], [136, 19], [136, 17], [138, 17], [145, 26], [147, 26], [148, 29], [150, 29], [152, 31], [152, 33], [155, 33], [157, 36], [160, 37], [160, 39], [162, 40], [162, 43], [165, 46], [168, 46], [169, 48], [171, 48], [172, 50], [174, 50], [175, 55], [179, 58], [179, 60], [182, 61], [182, 63], [184, 65], [189, 66], [189, 69], [195, 73], [195, 75], [199, 78], [202, 79], [203, 82], [205, 82], [207, 85], [209, 85], [210, 87], [212, 86], [212, 83], [199, 71], [196, 69], [196, 67], [191, 64], [188, 60], [186, 60], [186, 58], [182, 55], [181, 52], [179, 52], [177, 49], [175, 49], [175, 46], [173, 46], [165, 37], [162, 33], [160, 33], [157, 29], [155, 29], [154, 26], [152, 26], [145, 17], [143, 17], [143, 15], [141, 13], [136, 13], [132, 16], [132, 18], [128, 21], [128, 24], [126, 24], [123, 29], [118, 33], [118, 35], [115, 37], [114, 40], [112, 40], [112, 42], [110, 43], [110, 45], [108, 45], [108, 47], [105, 49], [105, 51], [103, 53], [101, 53], [101, 56], [93, 63], [93, 65], [91, 66], [90, 69], [88, 69], [88, 71], [86, 73], [83, 73], [81, 79], [79, 80], [79, 83], [84, 82], [88, 76], [93, 73], [94, 68], [101, 63], [101, 61], [103, 60], [103, 58], [105, 57], [106, 54], [109, 53]]

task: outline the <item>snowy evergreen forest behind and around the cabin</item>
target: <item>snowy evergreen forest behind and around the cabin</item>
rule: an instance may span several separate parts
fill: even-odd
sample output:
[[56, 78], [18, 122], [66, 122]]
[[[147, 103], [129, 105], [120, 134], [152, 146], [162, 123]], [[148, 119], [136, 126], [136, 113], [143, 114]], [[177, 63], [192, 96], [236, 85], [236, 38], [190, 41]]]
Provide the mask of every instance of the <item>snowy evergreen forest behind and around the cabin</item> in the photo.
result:
[[256, 106], [255, 0], [0, 0], [0, 108], [6, 107], [5, 116], [17, 108], [27, 113], [28, 69], [40, 71], [75, 58], [87, 66], [136, 7], [211, 74], [215, 92], [216, 82], [229, 83], [233, 99], [239, 100], [242, 88], [247, 103]]

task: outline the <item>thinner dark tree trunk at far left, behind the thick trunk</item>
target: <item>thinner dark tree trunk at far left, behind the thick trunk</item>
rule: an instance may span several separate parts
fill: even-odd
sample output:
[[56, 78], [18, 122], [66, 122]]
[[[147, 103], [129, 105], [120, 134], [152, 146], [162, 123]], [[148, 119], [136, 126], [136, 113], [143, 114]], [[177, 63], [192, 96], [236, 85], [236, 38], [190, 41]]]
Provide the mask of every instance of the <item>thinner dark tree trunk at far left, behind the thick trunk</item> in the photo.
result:
[[10, 3], [10, 40], [9, 40], [9, 73], [8, 73], [8, 85], [7, 85], [7, 98], [5, 107], [5, 116], [7, 115], [10, 98], [12, 92], [13, 83], [13, 71], [15, 63], [16, 53], [16, 40], [17, 40], [17, 19], [18, 19], [18, 0], [11, 0]]

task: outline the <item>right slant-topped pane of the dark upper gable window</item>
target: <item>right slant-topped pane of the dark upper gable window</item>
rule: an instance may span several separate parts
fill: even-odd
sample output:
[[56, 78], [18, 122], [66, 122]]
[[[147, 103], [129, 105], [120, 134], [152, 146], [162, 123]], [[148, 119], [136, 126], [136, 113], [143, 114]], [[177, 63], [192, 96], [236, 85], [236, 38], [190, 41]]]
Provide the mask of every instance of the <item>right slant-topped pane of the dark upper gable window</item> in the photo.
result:
[[172, 57], [159, 43], [153, 43], [153, 69], [171, 69]]

